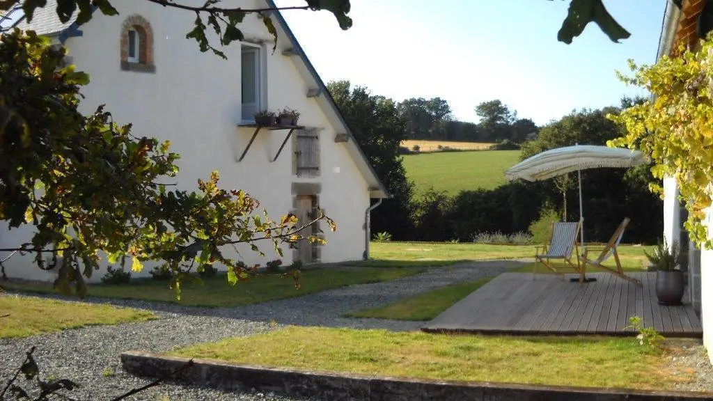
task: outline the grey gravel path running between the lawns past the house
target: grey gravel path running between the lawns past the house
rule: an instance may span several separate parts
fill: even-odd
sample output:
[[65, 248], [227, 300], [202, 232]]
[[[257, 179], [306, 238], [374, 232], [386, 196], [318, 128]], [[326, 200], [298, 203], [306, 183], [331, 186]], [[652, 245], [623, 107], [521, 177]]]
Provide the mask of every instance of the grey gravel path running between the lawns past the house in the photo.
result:
[[[409, 295], [454, 283], [478, 280], [502, 273], [516, 262], [483, 262], [433, 268], [426, 273], [384, 283], [354, 285], [327, 290], [301, 298], [277, 300], [240, 308], [185, 308], [163, 303], [133, 300], [90, 299], [94, 303], [154, 311], [158, 320], [115, 326], [94, 326], [64, 330], [20, 340], [0, 340], [0, 377], [11, 377], [24, 359], [24, 352], [36, 346], [41, 375], [69, 378], [83, 387], [71, 392], [78, 400], [109, 400], [140, 387], [148, 380], [123, 372], [119, 354], [125, 350], [161, 352], [197, 342], [263, 333], [270, 322], [279, 325], [320, 325], [329, 327], [386, 328], [416, 330], [421, 323], [393, 320], [342, 318], [364, 308], [373, 308]], [[24, 380], [21, 380], [24, 382]], [[162, 384], [141, 392], [130, 400], [289, 400], [257, 392], [223, 392], [201, 387]]]

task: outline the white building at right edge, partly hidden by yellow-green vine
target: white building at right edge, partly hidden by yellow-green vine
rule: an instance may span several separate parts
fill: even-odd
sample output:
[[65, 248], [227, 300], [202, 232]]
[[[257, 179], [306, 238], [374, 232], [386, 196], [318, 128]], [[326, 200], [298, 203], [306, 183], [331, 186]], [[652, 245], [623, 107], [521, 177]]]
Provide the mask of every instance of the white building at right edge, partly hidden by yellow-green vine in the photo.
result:
[[[706, 1], [684, 0], [682, 7], [667, 1], [666, 14], [659, 41], [657, 59], [664, 55], [676, 56], [675, 49], [684, 44], [689, 49], [699, 46], [700, 34], [698, 20], [706, 6]], [[708, 4], [708, 7], [713, 4]], [[708, 211], [711, 221], [712, 210]], [[667, 243], [681, 245], [687, 254], [687, 263], [683, 268], [688, 270], [688, 293], [694, 309], [699, 314], [703, 325], [703, 342], [708, 349], [713, 362], [713, 250], [699, 250], [692, 241], [683, 223], [688, 213], [679, 201], [679, 190], [674, 178], [664, 179], [664, 238]], [[713, 235], [709, 223], [709, 235]]]

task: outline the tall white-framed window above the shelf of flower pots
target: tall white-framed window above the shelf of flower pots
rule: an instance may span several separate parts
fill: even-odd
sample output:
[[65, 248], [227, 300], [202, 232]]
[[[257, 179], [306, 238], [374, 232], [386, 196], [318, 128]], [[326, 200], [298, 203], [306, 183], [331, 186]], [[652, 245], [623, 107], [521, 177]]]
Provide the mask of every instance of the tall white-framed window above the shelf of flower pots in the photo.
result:
[[252, 44], [242, 44], [240, 58], [240, 86], [242, 98], [242, 121], [254, 122], [255, 113], [262, 108], [263, 73], [262, 49]]

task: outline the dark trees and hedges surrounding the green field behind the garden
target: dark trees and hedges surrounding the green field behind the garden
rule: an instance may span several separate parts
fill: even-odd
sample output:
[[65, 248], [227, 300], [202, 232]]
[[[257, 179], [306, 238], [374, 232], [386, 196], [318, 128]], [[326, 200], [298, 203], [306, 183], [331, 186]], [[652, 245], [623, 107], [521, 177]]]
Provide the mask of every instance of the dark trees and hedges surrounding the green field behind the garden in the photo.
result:
[[[363, 86], [352, 86], [349, 81], [331, 82], [328, 89], [356, 141], [394, 196], [372, 212], [373, 233], [389, 232], [393, 240], [462, 242], [471, 241], [476, 233], [527, 231], [548, 210], [555, 210], [569, 221], [579, 218], [573, 176], [535, 183], [512, 182], [492, 190], [461, 191], [456, 195], [431, 189], [416, 197], [415, 184], [408, 181], [401, 163], [399, 144], [415, 135], [421, 139], [463, 141], [462, 136], [434, 136], [445, 135], [451, 132], [446, 128], [457, 126], [446, 101], [434, 98], [396, 103], [371, 94]], [[472, 126], [482, 136], [473, 140], [518, 141], [523, 143], [523, 159], [575, 143], [604, 145], [607, 140], [621, 136], [622, 129], [608, 120], [606, 114], [618, 113], [636, 101], [625, 98], [620, 107], [573, 111], [539, 129], [532, 121], [516, 118], [501, 101], [489, 101], [476, 108], [481, 122]], [[467, 124], [462, 123], [461, 128]], [[663, 227], [662, 200], [648, 191], [653, 177], [647, 166], [588, 170], [583, 171], [582, 177], [588, 240], [607, 241], [624, 217], [632, 218], [625, 242], [655, 243], [659, 239]]]

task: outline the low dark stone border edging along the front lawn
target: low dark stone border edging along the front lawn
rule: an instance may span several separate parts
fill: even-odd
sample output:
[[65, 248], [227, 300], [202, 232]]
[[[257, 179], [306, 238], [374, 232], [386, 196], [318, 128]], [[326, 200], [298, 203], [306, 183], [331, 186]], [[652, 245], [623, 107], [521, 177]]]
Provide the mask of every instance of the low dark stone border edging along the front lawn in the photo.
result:
[[[276, 392], [292, 397], [325, 400], [472, 400], [472, 401], [699, 401], [711, 400], [710, 393], [658, 392], [518, 385], [489, 382], [446, 382], [394, 377], [310, 372], [280, 367], [235, 365], [194, 359], [195, 365], [176, 377], [192, 385]], [[188, 358], [167, 357], [148, 352], [121, 354], [125, 371], [138, 376], [161, 377], [185, 365]]]

